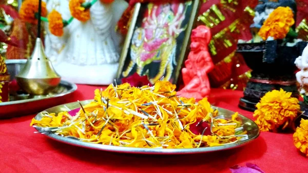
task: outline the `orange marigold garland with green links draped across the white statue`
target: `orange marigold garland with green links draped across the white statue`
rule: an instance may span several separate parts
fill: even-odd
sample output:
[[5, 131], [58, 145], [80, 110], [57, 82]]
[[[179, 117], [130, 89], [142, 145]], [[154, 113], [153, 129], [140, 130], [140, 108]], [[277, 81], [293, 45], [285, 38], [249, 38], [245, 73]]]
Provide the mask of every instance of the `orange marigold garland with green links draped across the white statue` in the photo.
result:
[[[100, 2], [109, 4], [114, 0], [100, 0]], [[49, 31], [55, 36], [62, 36], [64, 27], [69, 25], [74, 18], [81, 22], [86, 22], [90, 19], [90, 8], [98, 0], [85, 2], [85, 0], [70, 0], [69, 9], [72, 17], [69, 20], [63, 20], [62, 15], [56, 10], [52, 10], [47, 16], [46, 3], [42, 2], [42, 16], [41, 20], [49, 22]], [[38, 0], [25, 0], [20, 9], [20, 16], [23, 21], [31, 24], [37, 24]]]

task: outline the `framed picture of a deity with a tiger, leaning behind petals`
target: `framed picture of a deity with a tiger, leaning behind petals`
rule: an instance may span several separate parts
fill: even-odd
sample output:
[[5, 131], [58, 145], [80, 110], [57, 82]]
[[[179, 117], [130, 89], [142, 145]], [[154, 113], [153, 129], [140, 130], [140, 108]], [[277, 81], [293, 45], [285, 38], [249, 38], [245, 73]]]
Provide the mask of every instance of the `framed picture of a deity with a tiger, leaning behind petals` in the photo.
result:
[[199, 5], [199, 0], [136, 4], [120, 57], [118, 81], [139, 75], [147, 76], [150, 84], [158, 80], [177, 84]]

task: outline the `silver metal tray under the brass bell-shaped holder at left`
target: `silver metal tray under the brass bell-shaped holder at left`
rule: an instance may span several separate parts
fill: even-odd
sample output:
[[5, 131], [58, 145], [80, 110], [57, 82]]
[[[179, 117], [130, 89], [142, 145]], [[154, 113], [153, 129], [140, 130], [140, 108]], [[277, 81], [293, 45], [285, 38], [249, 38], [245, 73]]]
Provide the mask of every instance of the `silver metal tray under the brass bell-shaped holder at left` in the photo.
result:
[[[11, 81], [23, 68], [27, 60], [6, 60]], [[48, 95], [18, 94], [10, 95], [9, 102], [0, 103], [0, 119], [25, 116], [40, 112], [48, 107], [65, 103], [69, 95], [77, 90], [77, 86], [67, 81], [61, 81], [60, 85]]]

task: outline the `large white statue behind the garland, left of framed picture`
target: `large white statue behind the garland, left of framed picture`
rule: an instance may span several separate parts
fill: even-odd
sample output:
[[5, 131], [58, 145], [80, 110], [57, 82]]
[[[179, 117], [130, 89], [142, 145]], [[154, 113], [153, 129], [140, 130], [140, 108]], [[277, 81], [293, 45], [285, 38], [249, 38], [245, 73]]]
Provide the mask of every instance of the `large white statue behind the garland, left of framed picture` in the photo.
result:
[[[47, 10], [55, 9], [64, 20], [69, 20], [68, 4], [69, 0], [48, 0]], [[45, 51], [63, 80], [90, 85], [109, 85], [114, 81], [122, 40], [115, 33], [115, 26], [127, 7], [124, 0], [112, 4], [98, 1], [90, 8], [90, 20], [74, 19], [61, 37], [52, 35], [46, 26]]]

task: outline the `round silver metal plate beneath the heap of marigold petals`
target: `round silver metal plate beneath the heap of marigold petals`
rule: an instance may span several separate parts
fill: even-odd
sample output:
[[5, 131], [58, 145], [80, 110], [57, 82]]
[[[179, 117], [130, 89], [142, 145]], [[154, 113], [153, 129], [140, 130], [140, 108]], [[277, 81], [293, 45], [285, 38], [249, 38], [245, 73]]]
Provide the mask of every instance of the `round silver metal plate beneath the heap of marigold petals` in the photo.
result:
[[[87, 100], [87, 101], [82, 101], [81, 104], [86, 105], [93, 100]], [[52, 108], [49, 108], [45, 111], [48, 113], [59, 113], [62, 111], [70, 111], [76, 108], [79, 108], [80, 105], [78, 102], [73, 102], [73, 103], [68, 103], [60, 106], [55, 106]], [[219, 111], [219, 115], [224, 115], [226, 119], [231, 119], [232, 114], [234, 114], [233, 111], [219, 108], [219, 107], [214, 107], [217, 108]], [[71, 139], [67, 137], [62, 137], [58, 136], [54, 133], [47, 132], [44, 135], [47, 137], [63, 142], [66, 144], [74, 145], [74, 146], [79, 146], [79, 147], [84, 147], [84, 148], [90, 148], [90, 149], [97, 149], [97, 150], [103, 150], [103, 151], [110, 151], [110, 152], [120, 152], [120, 153], [132, 153], [132, 154], [144, 154], [144, 155], [184, 155], [184, 154], [194, 154], [194, 153], [206, 153], [206, 152], [214, 152], [214, 151], [220, 151], [220, 150], [227, 150], [227, 149], [232, 149], [232, 148], [237, 148], [241, 147], [243, 145], [246, 145], [248, 143], [251, 143], [255, 139], [259, 137], [260, 130], [257, 126], [257, 124], [242, 116], [239, 114], [239, 118], [242, 120], [243, 123], [243, 128], [244, 130], [247, 131], [248, 134], [248, 139], [245, 141], [240, 141], [237, 143], [233, 144], [227, 144], [227, 145], [221, 145], [221, 146], [213, 146], [213, 147], [201, 147], [201, 148], [189, 148], [189, 149], [163, 149], [163, 148], [132, 148], [132, 147], [122, 147], [122, 146], [111, 146], [111, 145], [102, 145], [102, 144], [93, 144], [93, 143], [87, 143], [87, 142], [82, 142], [76, 139]], [[41, 113], [38, 113], [35, 117], [36, 120], [41, 120], [42, 116]], [[37, 131], [41, 131], [39, 127], [36, 127]], [[37, 134], [39, 135], [39, 134]]]

